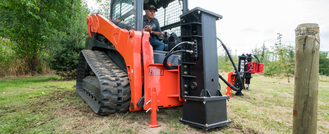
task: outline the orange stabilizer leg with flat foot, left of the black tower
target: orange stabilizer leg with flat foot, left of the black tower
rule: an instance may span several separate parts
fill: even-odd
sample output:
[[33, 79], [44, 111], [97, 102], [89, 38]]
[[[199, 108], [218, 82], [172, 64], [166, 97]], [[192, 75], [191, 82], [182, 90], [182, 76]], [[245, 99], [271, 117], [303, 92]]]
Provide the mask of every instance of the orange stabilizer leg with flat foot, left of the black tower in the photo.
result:
[[[152, 89], [150, 89], [152, 92]], [[157, 92], [156, 89], [154, 88], [154, 91], [151, 94], [151, 124], [148, 126], [151, 127], [157, 127], [161, 126], [160, 124], [157, 124]]]

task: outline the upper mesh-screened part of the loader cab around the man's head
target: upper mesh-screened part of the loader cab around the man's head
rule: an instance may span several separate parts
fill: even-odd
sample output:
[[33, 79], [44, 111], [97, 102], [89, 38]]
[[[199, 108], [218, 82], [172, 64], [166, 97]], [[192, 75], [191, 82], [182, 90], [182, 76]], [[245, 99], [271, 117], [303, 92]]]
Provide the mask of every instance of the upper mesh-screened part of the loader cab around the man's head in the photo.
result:
[[112, 0], [110, 19], [120, 28], [143, 30], [143, 9], [149, 4], [158, 9], [155, 18], [158, 19], [161, 29], [180, 36], [179, 15], [188, 11], [187, 0]]

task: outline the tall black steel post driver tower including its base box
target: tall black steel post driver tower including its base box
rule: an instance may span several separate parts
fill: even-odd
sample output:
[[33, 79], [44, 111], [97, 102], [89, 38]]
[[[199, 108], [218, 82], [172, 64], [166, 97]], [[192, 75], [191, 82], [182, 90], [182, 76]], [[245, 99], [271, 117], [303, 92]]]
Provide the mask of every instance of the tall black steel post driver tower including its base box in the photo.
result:
[[184, 99], [180, 122], [210, 129], [230, 124], [226, 100], [219, 91], [216, 20], [221, 15], [196, 7], [179, 16], [182, 53], [181, 94]]

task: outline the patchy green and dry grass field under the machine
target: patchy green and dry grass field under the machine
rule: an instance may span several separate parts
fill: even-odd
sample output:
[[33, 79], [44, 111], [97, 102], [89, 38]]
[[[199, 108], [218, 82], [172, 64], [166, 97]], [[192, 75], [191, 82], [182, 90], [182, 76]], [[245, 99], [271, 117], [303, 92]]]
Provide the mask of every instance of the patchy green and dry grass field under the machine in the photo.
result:
[[[227, 102], [232, 124], [209, 130], [179, 123], [182, 107], [160, 109], [158, 123], [162, 126], [155, 128], [147, 126], [150, 112], [144, 110], [97, 115], [76, 93], [76, 81], [58, 79], [0, 79], [0, 133], [292, 133], [293, 84], [287, 79], [254, 75], [251, 91], [242, 91], [244, 96], [233, 96]], [[226, 85], [220, 83], [225, 94]], [[317, 133], [329, 134], [328, 91], [329, 82], [319, 81]]]

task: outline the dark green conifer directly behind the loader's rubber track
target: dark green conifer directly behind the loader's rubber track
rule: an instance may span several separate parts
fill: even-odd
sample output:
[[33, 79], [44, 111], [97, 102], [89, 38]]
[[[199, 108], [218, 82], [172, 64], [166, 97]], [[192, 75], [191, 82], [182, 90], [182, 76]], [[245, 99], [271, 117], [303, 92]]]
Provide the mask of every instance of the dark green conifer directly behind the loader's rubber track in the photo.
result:
[[63, 71], [61, 76], [74, 78], [78, 68], [80, 51], [85, 47], [85, 39], [88, 37], [87, 24], [85, 22], [87, 11], [80, 9], [79, 20], [71, 25], [68, 35], [64, 38], [53, 36], [55, 42], [47, 59], [51, 69]]

